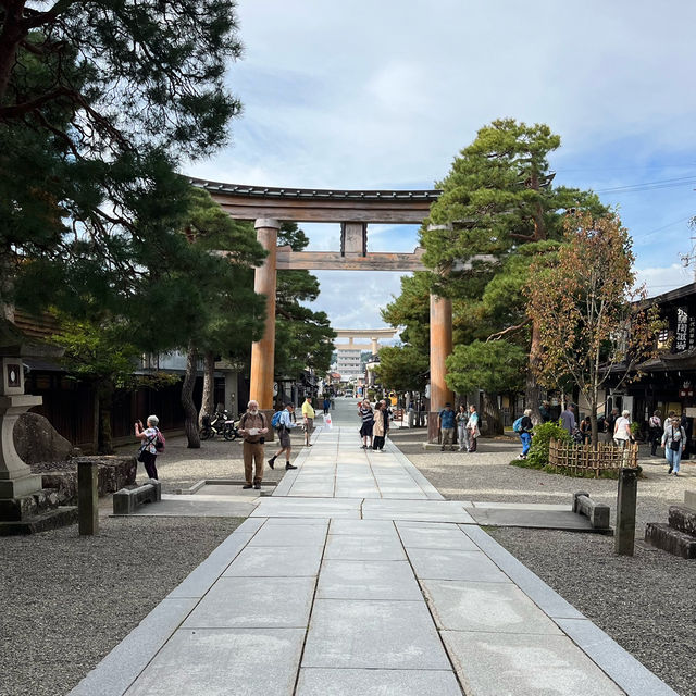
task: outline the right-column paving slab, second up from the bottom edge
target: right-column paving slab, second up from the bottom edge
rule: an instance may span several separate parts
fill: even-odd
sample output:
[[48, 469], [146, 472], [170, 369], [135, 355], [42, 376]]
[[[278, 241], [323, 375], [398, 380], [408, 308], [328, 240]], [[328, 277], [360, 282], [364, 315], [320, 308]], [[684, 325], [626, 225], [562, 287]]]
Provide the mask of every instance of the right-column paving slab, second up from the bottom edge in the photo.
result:
[[443, 631], [561, 634], [514, 585], [424, 580], [422, 586], [435, 623]]

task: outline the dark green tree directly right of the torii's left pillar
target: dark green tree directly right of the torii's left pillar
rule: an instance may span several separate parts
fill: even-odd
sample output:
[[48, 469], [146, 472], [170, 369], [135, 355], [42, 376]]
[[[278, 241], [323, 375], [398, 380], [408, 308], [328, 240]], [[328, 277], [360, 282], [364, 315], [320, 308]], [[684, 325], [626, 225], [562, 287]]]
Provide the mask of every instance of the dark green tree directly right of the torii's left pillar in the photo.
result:
[[[301, 251], [309, 244], [295, 223], [283, 223], [278, 246]], [[297, 377], [304, 368], [325, 374], [331, 366], [336, 334], [325, 312], [315, 312], [302, 302], [319, 297], [319, 281], [309, 271], [278, 271], [275, 294], [275, 374]]]

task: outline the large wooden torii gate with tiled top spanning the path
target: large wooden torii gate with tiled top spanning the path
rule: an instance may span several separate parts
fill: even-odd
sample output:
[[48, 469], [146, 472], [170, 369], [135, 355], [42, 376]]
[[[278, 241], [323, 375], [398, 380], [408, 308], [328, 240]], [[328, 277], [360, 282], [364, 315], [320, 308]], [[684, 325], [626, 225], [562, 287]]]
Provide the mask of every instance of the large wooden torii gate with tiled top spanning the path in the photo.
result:
[[[253, 220], [257, 238], [269, 251], [254, 273], [253, 289], [266, 297], [263, 338], [251, 346], [250, 398], [266, 415], [273, 409], [275, 286], [278, 269], [338, 271], [424, 271], [423, 249], [413, 253], [368, 251], [368, 224], [421, 224], [438, 190], [327, 190], [240, 186], [191, 178], [236, 220]], [[340, 251], [293, 251], [277, 246], [278, 221], [340, 224]], [[445, 360], [452, 350], [451, 300], [431, 295], [431, 418], [428, 439], [437, 442], [437, 413], [452, 394]]]

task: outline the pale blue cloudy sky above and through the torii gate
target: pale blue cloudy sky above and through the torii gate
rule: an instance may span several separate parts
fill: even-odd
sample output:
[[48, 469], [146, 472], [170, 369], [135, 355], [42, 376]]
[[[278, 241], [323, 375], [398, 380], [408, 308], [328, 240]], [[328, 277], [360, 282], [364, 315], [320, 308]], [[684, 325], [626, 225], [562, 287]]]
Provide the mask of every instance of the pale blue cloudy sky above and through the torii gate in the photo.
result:
[[[239, 0], [244, 112], [231, 145], [185, 165], [215, 182], [433, 188], [498, 117], [546, 123], [556, 184], [592, 188], [629, 228], [650, 296], [696, 259], [696, 3], [667, 0]], [[338, 225], [301, 225], [338, 250]], [[372, 251], [413, 251], [415, 226], [372, 225]], [[399, 273], [315, 272], [335, 328], [383, 326]]]

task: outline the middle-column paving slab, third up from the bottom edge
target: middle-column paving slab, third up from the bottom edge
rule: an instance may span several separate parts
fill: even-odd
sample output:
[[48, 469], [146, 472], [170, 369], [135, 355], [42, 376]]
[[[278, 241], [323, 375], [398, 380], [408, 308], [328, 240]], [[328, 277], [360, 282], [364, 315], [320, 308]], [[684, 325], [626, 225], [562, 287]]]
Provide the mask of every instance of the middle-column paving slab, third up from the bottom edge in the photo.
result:
[[408, 561], [344, 561], [322, 563], [319, 599], [422, 599]]

